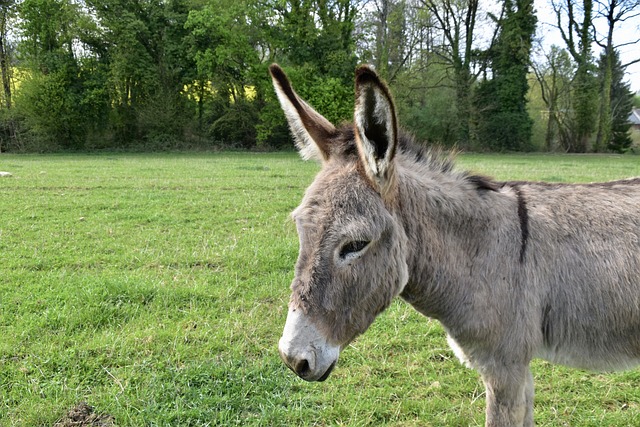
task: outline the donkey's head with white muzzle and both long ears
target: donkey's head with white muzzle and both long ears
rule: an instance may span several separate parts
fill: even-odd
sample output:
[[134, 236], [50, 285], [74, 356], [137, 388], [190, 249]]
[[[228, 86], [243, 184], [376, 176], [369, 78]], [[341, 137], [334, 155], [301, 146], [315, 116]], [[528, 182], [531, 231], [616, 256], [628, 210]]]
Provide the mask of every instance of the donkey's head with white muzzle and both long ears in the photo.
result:
[[323, 381], [340, 350], [407, 282], [406, 235], [394, 213], [395, 109], [387, 87], [363, 66], [355, 123], [336, 128], [295, 93], [280, 67], [270, 71], [300, 154], [322, 162], [292, 214], [300, 254], [279, 350], [301, 378]]

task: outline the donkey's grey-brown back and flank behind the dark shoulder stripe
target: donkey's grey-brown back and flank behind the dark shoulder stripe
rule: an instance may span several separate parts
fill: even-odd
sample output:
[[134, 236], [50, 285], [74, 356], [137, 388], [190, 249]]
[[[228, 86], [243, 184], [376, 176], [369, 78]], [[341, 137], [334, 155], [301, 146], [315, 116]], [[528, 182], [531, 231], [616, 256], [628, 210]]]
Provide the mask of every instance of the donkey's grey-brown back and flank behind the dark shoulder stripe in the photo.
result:
[[640, 363], [640, 179], [519, 185], [524, 268], [541, 287], [538, 355], [586, 369]]

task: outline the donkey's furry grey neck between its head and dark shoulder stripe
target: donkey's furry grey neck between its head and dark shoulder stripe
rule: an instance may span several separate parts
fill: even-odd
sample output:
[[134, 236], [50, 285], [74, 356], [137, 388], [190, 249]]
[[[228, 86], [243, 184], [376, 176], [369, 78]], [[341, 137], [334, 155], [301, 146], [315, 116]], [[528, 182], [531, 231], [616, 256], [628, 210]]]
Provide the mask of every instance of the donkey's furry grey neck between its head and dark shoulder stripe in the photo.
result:
[[408, 239], [409, 267], [401, 296], [445, 326], [461, 304], [473, 303], [475, 291], [486, 290], [497, 265], [518, 263], [517, 192], [478, 180], [399, 162], [398, 217]]

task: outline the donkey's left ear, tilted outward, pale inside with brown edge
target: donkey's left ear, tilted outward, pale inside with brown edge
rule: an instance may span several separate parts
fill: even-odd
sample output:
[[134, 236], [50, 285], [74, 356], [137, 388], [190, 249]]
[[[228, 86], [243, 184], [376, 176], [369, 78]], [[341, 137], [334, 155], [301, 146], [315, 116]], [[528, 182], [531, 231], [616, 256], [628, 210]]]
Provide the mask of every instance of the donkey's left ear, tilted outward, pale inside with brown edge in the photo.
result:
[[269, 72], [300, 156], [329, 159], [328, 140], [336, 134], [335, 126], [298, 96], [280, 66], [272, 64]]

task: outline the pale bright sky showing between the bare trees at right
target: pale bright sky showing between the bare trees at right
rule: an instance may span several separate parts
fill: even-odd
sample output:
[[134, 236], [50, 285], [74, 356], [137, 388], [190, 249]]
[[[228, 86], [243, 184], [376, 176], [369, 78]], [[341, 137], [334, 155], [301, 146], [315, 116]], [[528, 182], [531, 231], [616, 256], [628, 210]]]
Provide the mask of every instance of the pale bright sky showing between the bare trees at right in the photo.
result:
[[[608, 2], [607, 0], [603, 1]], [[545, 50], [548, 50], [552, 44], [566, 48], [566, 44], [560, 37], [560, 31], [556, 28], [556, 17], [551, 6], [551, 0], [534, 0], [534, 4], [538, 15], [537, 36], [542, 38], [542, 44]], [[594, 7], [595, 6], [594, 2]], [[619, 45], [630, 41], [635, 42], [633, 45], [619, 49], [620, 60], [623, 64], [640, 58], [640, 41], [638, 41], [640, 39], [640, 10], [635, 13], [637, 13], [638, 16], [622, 23], [620, 27], [614, 28], [614, 44]], [[606, 31], [606, 25], [603, 24], [605, 23], [602, 19], [596, 20], [596, 29], [600, 33]], [[594, 44], [593, 52], [596, 58], [600, 55], [601, 50], [602, 48], [600, 46]], [[631, 90], [636, 93], [640, 92], [640, 62], [627, 68], [625, 81], [630, 83]]]

